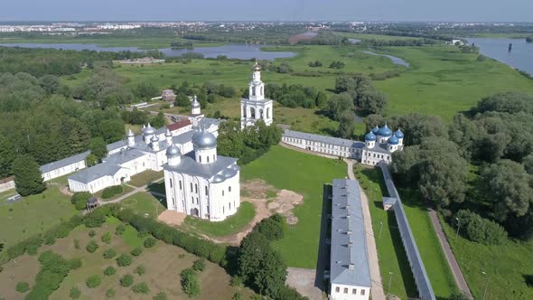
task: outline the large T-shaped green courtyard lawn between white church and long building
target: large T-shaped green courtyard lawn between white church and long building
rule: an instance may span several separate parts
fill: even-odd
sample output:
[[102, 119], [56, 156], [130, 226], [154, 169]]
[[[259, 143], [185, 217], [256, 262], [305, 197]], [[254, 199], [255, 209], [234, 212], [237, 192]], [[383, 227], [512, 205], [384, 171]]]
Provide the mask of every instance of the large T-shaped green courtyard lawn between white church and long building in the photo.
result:
[[298, 223], [287, 225], [285, 238], [273, 242], [289, 267], [316, 267], [323, 206], [323, 184], [346, 176], [346, 164], [306, 155], [276, 145], [241, 169], [241, 180], [260, 178], [276, 187], [298, 192], [304, 203], [295, 208]]

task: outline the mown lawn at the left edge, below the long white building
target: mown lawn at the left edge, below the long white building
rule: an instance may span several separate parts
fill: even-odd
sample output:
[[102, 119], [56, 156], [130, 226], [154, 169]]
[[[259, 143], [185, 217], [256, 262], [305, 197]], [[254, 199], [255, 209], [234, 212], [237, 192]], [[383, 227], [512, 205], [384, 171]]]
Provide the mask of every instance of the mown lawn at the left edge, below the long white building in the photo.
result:
[[49, 230], [78, 211], [57, 187], [42, 194], [24, 197], [12, 204], [0, 205], [0, 243], [5, 247], [33, 234]]

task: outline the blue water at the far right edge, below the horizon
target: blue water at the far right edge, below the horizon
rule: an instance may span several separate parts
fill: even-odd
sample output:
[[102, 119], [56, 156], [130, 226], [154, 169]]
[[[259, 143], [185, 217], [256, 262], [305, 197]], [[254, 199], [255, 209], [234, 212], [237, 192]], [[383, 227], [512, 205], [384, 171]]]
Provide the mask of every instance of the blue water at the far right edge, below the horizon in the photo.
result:
[[[466, 40], [480, 47], [483, 55], [533, 74], [533, 42], [526, 42], [526, 39], [467, 38]], [[509, 52], [510, 43], [512, 50]]]

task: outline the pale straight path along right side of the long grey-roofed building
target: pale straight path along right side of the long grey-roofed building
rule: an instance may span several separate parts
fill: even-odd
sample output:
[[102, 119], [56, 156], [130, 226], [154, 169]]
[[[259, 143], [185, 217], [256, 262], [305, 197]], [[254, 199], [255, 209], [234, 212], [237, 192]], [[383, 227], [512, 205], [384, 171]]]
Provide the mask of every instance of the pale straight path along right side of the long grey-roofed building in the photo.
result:
[[[345, 160], [348, 164], [348, 177], [355, 179], [353, 174], [353, 163], [351, 159]], [[370, 267], [370, 279], [372, 280], [372, 286], [370, 287], [370, 295], [374, 300], [385, 300], [385, 292], [383, 291], [383, 284], [381, 283], [381, 275], [379, 273], [378, 263], [378, 248], [376, 248], [376, 240], [374, 239], [374, 230], [372, 229], [372, 219], [370, 217], [369, 199], [367, 195], [360, 189], [360, 202], [363, 209], [363, 220], [365, 222], [365, 230], [367, 231], [367, 249], [369, 251], [369, 267]]]

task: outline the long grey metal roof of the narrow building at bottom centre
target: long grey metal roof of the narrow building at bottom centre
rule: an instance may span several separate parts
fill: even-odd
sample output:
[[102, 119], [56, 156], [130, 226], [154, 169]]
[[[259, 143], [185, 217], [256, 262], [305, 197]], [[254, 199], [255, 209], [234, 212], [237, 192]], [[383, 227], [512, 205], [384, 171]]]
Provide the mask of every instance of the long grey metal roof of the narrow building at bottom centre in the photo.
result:
[[370, 287], [359, 182], [333, 179], [331, 283]]

